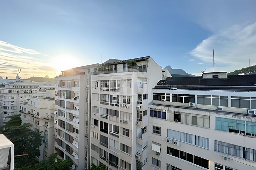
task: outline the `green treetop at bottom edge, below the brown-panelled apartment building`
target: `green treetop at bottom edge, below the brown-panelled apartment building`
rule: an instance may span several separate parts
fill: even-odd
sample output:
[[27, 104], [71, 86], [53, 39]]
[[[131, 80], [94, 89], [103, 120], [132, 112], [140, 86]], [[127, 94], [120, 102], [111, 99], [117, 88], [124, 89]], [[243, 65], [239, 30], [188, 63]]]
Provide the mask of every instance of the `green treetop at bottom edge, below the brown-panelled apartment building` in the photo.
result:
[[72, 170], [71, 159], [60, 159], [57, 153], [51, 154], [47, 160], [41, 160], [33, 166], [24, 165], [22, 168], [15, 168], [15, 170]]

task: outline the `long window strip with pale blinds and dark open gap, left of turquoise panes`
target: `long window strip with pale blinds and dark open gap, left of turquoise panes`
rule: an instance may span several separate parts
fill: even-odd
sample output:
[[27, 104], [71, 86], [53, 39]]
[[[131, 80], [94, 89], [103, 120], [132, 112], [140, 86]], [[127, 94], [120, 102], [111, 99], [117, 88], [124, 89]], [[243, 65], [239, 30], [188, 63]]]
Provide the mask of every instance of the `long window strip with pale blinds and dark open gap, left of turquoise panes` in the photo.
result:
[[[151, 108], [153, 109], [153, 108]], [[169, 120], [201, 127], [210, 127], [210, 116], [191, 113], [172, 112], [169, 113]]]

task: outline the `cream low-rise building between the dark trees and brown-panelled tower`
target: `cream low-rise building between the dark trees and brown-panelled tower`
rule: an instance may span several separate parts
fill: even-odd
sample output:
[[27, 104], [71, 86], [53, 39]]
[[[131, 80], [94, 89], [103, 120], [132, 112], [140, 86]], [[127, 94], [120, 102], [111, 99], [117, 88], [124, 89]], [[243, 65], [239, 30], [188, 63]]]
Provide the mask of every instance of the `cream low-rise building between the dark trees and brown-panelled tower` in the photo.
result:
[[54, 153], [54, 91], [54, 88], [46, 90], [46, 98], [30, 98], [21, 104], [21, 125], [30, 123], [31, 130], [43, 136], [39, 160], [48, 159]]

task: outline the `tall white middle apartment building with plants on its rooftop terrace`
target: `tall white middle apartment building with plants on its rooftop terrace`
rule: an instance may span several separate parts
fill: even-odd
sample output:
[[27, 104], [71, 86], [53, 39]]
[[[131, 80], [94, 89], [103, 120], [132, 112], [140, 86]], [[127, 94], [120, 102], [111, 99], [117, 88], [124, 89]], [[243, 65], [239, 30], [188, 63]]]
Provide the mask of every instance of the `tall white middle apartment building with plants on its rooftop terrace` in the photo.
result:
[[90, 162], [148, 169], [148, 104], [162, 68], [150, 57], [110, 59], [91, 76]]

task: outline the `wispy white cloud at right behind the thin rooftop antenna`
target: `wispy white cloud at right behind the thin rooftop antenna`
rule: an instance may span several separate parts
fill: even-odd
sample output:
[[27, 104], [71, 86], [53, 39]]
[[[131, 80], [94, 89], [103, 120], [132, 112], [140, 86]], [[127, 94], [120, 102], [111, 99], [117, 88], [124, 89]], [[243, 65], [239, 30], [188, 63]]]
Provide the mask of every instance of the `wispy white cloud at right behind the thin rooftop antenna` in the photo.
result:
[[[214, 48], [214, 63], [222, 71], [256, 65], [256, 23], [251, 25], [234, 25], [221, 30], [215, 35], [203, 40], [190, 54], [203, 62], [212, 63]], [[215, 67], [215, 66], [214, 66]], [[218, 68], [214, 71], [218, 71]]]

